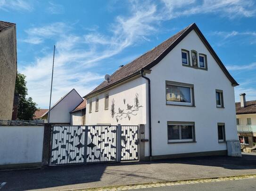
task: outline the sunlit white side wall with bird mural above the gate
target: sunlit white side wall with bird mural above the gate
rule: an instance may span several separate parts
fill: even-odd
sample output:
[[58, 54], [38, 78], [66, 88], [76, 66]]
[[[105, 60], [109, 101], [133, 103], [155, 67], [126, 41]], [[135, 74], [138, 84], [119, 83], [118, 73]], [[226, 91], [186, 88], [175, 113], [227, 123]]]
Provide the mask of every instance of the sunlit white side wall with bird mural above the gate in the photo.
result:
[[[138, 125], [146, 123], [146, 82], [143, 78], [137, 78], [131, 82], [123, 84], [121, 86], [116, 87], [115, 89], [109, 90], [107, 92], [103, 92], [93, 98], [87, 99], [86, 105], [86, 125], [92, 124], [111, 124], [116, 125], [120, 123], [121, 125]], [[108, 109], [104, 109], [105, 104], [105, 94], [109, 94], [109, 102]], [[124, 112], [128, 112], [127, 103], [129, 105], [134, 106], [134, 98], [135, 94], [139, 94], [140, 107], [137, 112], [133, 112], [130, 115], [131, 119], [129, 120], [126, 115], [123, 115], [122, 118], [119, 118], [119, 121], [116, 121], [116, 116], [118, 116], [118, 108], [121, 110], [124, 109]], [[96, 98], [99, 98], [99, 111], [95, 111], [95, 103]], [[110, 108], [112, 104], [112, 100], [115, 100], [115, 112], [114, 117], [111, 117]], [[125, 104], [124, 104], [125, 99]], [[89, 113], [90, 108], [90, 100], [92, 100], [92, 111]]]

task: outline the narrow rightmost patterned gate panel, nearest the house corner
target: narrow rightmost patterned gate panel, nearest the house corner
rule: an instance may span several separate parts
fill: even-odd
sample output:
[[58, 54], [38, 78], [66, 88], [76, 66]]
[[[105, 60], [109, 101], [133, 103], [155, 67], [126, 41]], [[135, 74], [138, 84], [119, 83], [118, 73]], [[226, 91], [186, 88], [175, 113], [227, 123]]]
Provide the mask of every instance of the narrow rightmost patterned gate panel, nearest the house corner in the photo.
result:
[[138, 126], [121, 126], [121, 160], [139, 160]]

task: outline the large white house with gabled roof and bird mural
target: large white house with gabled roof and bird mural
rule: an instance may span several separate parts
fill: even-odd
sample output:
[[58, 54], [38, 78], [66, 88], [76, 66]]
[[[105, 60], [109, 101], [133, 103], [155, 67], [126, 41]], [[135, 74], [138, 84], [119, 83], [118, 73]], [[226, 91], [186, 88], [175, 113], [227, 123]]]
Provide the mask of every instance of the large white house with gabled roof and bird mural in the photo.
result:
[[237, 85], [193, 23], [84, 96], [86, 124], [145, 124], [152, 159], [226, 154]]

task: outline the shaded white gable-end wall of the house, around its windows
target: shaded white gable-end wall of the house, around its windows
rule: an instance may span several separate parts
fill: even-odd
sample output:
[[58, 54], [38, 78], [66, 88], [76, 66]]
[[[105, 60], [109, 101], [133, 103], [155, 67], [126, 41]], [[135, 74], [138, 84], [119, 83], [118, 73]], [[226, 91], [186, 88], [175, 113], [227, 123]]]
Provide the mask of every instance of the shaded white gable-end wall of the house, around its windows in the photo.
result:
[[[206, 54], [208, 71], [182, 66], [181, 49]], [[227, 140], [237, 139], [234, 88], [195, 31], [191, 31], [147, 76], [151, 79], [153, 155], [225, 150], [226, 144], [218, 143], [218, 122], [225, 123]], [[195, 107], [166, 105], [165, 80], [194, 84]], [[223, 90], [225, 108], [216, 107], [215, 89]], [[197, 142], [168, 144], [167, 121], [195, 122]]]

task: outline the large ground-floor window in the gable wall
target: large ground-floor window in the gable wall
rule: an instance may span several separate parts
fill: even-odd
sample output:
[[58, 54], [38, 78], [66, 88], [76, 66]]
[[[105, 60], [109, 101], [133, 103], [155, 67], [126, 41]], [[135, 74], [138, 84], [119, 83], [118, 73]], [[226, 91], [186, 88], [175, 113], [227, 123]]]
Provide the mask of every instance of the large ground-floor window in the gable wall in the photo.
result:
[[168, 143], [194, 142], [194, 122], [167, 122]]

